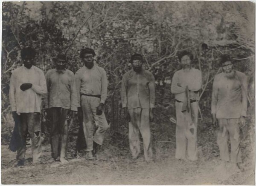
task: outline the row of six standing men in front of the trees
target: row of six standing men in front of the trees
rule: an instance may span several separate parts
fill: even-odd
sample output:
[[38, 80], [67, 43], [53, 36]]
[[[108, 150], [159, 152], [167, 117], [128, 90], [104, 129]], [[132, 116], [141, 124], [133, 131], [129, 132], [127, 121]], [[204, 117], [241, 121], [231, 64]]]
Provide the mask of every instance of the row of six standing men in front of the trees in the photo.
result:
[[[58, 54], [54, 58], [55, 69], [46, 75], [35, 67], [35, 51], [21, 50], [23, 66], [13, 71], [10, 80], [10, 103], [15, 122], [19, 121], [21, 145], [17, 149], [17, 166], [24, 165], [26, 135], [32, 140], [33, 163], [41, 155], [41, 96], [44, 109], [50, 118], [50, 143], [52, 158], [60, 157], [67, 162], [67, 116], [82, 113], [81, 131], [85, 139], [87, 159], [96, 156], [102, 146], [109, 125], [103, 112], [107, 98], [107, 76], [103, 68], [94, 64], [93, 49], [81, 49], [80, 57], [84, 66], [74, 75], [66, 69], [67, 58]], [[197, 160], [198, 100], [202, 85], [201, 72], [191, 66], [193, 56], [182, 52], [179, 56], [182, 69], [175, 72], [171, 92], [175, 94], [176, 154], [177, 159]], [[142, 68], [143, 57], [131, 56], [132, 69], [122, 77], [121, 99], [129, 123], [128, 138], [132, 158], [140, 153], [139, 133], [143, 137], [144, 156], [152, 160], [150, 122], [154, 119], [155, 81], [151, 72]], [[241, 162], [239, 123], [244, 125], [247, 109], [246, 76], [233, 69], [228, 55], [221, 57], [223, 72], [217, 74], [212, 90], [213, 123], [218, 125], [218, 146], [222, 160], [229, 160], [228, 132], [231, 141], [231, 161]], [[218, 120], [217, 120], [218, 119]], [[95, 131], [96, 129], [96, 131]], [[186, 157], [187, 149], [187, 157]]]

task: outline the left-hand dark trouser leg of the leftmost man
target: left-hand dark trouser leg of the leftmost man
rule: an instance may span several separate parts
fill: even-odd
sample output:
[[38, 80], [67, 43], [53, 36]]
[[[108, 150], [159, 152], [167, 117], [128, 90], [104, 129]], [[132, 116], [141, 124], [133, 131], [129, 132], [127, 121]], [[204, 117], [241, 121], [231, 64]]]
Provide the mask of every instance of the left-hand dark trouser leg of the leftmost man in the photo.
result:
[[20, 132], [21, 146], [17, 149], [17, 160], [24, 160], [26, 154], [26, 136], [28, 133], [27, 113], [20, 113], [20, 124], [18, 125]]

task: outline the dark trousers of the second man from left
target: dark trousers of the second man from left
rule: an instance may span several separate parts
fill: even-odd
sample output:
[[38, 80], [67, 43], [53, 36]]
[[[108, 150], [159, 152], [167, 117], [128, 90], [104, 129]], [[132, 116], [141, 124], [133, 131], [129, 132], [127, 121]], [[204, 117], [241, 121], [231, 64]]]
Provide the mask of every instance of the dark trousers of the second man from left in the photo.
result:
[[50, 108], [51, 132], [50, 142], [52, 157], [65, 157], [67, 148], [68, 125], [66, 121], [68, 109], [61, 107]]

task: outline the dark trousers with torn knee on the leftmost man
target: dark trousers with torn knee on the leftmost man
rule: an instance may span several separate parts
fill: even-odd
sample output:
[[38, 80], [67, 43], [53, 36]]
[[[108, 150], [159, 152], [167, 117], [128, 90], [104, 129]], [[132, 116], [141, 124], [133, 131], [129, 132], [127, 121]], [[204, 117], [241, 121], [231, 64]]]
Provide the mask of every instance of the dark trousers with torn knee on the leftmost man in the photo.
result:
[[31, 139], [31, 149], [33, 161], [36, 161], [41, 156], [41, 122], [40, 113], [20, 113], [20, 125], [19, 125], [21, 146], [17, 149], [17, 160], [24, 160], [26, 154], [26, 137], [29, 133]]

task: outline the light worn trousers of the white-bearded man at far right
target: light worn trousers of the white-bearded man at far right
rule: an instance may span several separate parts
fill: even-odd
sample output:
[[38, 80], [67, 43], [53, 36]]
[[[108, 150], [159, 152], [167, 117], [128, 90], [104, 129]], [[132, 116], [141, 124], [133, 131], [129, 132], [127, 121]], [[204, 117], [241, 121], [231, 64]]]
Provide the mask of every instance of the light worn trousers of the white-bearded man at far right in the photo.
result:
[[[220, 149], [221, 160], [240, 163], [241, 149], [240, 149], [240, 129], [239, 118], [236, 119], [218, 119], [219, 129], [217, 135], [217, 143]], [[229, 157], [228, 136], [230, 137], [231, 153]]]

